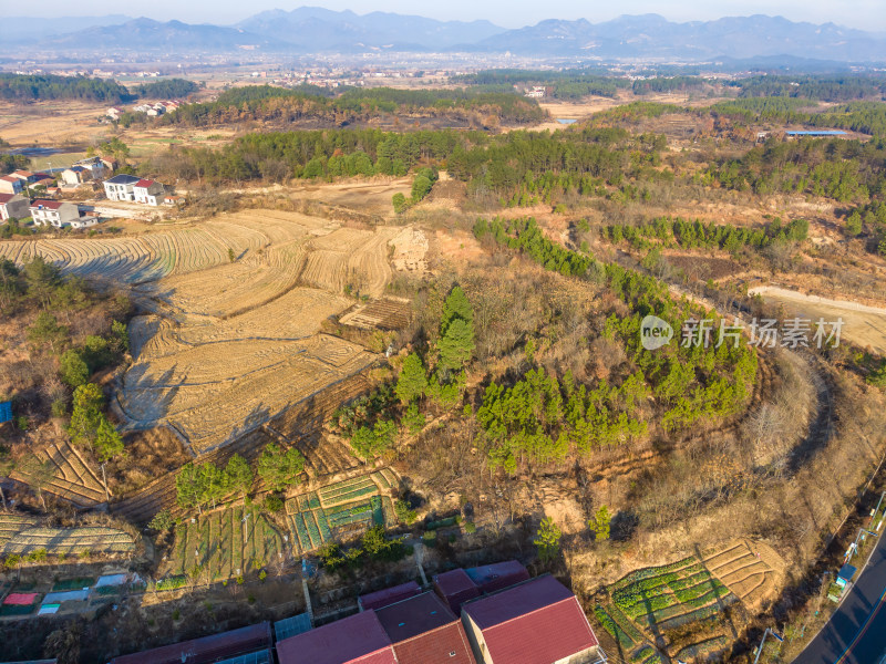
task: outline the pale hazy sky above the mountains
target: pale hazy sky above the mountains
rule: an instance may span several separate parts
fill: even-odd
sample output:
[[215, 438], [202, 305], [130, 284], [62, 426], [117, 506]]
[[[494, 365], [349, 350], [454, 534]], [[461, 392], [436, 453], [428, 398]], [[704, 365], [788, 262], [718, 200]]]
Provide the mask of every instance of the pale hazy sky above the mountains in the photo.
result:
[[[0, 2], [2, 4], [2, 2]], [[670, 20], [705, 20], [724, 15], [765, 13], [783, 15], [793, 21], [837, 24], [864, 30], [886, 32], [886, 0], [620, 0], [599, 2], [588, 0], [444, 0], [443, 2], [415, 2], [414, 0], [356, 0], [303, 1], [281, 0], [152, 0], [142, 3], [113, 3], [106, 0], [42, 0], [19, 4], [24, 15], [102, 15], [124, 13], [146, 15], [157, 20], [178, 19], [186, 22], [234, 23], [265, 9], [295, 9], [302, 4], [327, 9], [350, 9], [357, 13], [393, 11], [426, 15], [434, 19], [487, 19], [505, 28], [537, 23], [543, 19], [578, 19], [591, 22], [606, 21], [622, 13], [660, 13]], [[7, 8], [7, 11], [11, 6]]]

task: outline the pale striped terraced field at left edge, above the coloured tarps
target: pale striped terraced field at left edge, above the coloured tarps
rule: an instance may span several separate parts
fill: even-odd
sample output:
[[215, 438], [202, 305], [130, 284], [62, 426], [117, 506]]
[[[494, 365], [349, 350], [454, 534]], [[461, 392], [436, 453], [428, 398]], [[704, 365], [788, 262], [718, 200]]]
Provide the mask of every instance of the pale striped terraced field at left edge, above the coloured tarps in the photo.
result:
[[130, 533], [115, 528], [42, 528], [35, 519], [0, 515], [0, 553], [21, 556], [39, 549], [45, 549], [50, 556], [124, 556], [135, 551], [135, 540]]

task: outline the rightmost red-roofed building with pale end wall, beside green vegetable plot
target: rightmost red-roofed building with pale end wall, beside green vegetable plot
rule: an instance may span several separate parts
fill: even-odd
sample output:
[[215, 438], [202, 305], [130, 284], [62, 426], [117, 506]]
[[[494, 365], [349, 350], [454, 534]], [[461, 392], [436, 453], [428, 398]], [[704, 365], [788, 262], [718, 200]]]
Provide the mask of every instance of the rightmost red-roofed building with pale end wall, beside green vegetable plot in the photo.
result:
[[480, 664], [606, 662], [578, 599], [554, 577], [467, 602], [462, 622]]

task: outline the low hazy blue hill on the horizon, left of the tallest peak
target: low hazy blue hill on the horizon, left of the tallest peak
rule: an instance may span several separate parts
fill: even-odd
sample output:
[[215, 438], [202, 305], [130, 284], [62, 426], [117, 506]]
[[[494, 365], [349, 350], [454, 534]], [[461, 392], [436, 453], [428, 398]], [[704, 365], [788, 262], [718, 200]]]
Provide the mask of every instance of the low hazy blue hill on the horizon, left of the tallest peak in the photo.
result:
[[[94, 44], [94, 45], [91, 45]], [[238, 28], [194, 25], [181, 21], [162, 23], [134, 19], [120, 25], [99, 25], [39, 42], [43, 48], [76, 49], [106, 52], [113, 50], [161, 51], [236, 51], [238, 49], [280, 50], [282, 42], [250, 34]]]

